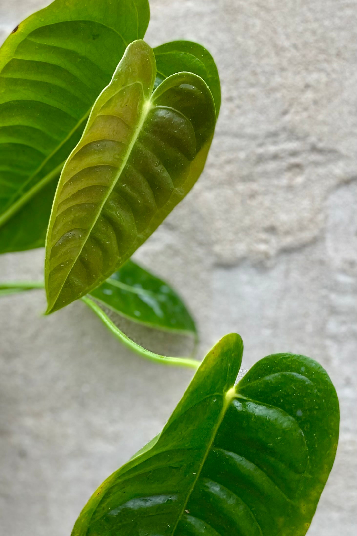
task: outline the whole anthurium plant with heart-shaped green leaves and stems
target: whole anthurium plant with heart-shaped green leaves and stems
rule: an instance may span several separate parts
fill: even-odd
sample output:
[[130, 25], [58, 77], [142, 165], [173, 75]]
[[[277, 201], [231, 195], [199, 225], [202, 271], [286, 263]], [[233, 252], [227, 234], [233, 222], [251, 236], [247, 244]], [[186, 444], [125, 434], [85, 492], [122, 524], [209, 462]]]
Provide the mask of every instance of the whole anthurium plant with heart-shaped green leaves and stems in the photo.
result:
[[0, 49], [0, 252], [45, 247], [47, 314], [81, 299], [143, 358], [198, 369], [161, 434], [89, 499], [73, 536], [300, 536], [338, 442], [335, 389], [276, 354], [237, 383], [242, 341], [158, 355], [121, 315], [197, 340], [179, 295], [131, 256], [198, 180], [221, 105], [201, 45], [152, 49], [147, 0], [55, 0]]

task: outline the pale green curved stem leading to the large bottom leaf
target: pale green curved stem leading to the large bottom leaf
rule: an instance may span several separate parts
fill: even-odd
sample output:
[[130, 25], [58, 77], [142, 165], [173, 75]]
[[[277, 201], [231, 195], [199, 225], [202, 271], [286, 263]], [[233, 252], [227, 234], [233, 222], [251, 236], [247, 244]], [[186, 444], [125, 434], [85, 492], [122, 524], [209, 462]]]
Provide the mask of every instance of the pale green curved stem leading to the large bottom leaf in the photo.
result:
[[81, 298], [86, 305], [95, 312], [95, 314], [101, 319], [103, 324], [108, 327], [111, 333], [118, 339], [124, 346], [130, 348], [133, 352], [140, 355], [142, 358], [150, 359], [151, 361], [156, 361], [157, 363], [173, 365], [177, 367], [189, 367], [189, 368], [198, 368], [201, 364], [201, 361], [196, 359], [188, 358], [169, 358], [164, 355], [158, 355], [154, 352], [146, 350], [139, 344], [134, 343], [129, 337], [127, 337], [119, 328], [111, 321], [108, 315], [88, 296]]

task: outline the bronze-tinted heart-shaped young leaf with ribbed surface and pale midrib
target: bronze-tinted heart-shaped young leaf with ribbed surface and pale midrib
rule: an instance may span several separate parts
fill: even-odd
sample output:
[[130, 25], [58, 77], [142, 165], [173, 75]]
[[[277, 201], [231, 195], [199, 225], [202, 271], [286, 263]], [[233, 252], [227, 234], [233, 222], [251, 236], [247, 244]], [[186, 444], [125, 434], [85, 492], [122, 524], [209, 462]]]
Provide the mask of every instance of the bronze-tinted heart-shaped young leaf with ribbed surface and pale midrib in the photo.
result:
[[46, 241], [48, 313], [124, 264], [202, 172], [216, 123], [211, 92], [183, 72], [152, 93], [155, 78], [153, 50], [134, 41], [65, 164]]

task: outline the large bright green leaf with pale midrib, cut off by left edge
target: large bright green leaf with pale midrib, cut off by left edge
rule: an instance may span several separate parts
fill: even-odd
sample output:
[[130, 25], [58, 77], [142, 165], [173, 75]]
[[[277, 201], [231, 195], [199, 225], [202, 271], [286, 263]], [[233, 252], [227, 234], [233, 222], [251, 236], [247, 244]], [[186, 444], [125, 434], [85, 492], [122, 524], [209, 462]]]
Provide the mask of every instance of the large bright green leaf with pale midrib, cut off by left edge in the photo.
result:
[[[0, 49], [0, 252], [44, 245], [58, 177], [147, 0], [55, 0]], [[31, 222], [31, 225], [29, 225]]]

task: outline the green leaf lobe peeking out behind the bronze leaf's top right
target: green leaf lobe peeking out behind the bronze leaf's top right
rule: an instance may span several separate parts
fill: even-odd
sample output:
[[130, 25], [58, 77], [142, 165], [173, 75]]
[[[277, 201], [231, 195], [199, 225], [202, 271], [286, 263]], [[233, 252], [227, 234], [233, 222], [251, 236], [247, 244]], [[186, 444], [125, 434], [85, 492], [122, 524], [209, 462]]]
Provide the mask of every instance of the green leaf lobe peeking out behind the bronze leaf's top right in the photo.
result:
[[154, 53], [157, 66], [155, 86], [176, 72], [193, 72], [203, 78], [210, 88], [218, 117], [221, 106], [221, 85], [217, 66], [208, 50], [192, 41], [171, 41], [154, 48]]

